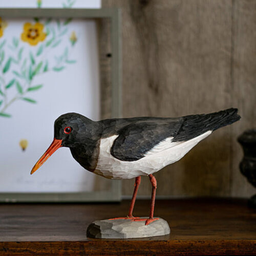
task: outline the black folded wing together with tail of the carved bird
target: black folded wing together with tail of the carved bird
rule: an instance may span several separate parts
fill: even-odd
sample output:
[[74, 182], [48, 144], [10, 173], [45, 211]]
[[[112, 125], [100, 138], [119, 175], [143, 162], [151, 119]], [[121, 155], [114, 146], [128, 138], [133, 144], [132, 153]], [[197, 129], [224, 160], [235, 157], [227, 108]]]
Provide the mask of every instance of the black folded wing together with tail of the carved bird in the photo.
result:
[[130, 123], [118, 131], [119, 136], [111, 147], [111, 154], [122, 161], [139, 160], [166, 138], [173, 137], [169, 142], [169, 147], [172, 147], [177, 142], [188, 141], [236, 122], [240, 119], [237, 111], [227, 109], [210, 114], [158, 120], [148, 118], [148, 121]]

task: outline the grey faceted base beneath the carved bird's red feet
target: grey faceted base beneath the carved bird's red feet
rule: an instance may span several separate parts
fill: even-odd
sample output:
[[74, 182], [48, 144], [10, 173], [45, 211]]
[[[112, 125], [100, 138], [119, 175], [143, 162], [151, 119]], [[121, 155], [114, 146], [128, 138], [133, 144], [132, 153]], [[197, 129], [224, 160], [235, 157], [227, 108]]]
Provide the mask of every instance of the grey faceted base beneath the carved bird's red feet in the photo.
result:
[[164, 236], [169, 233], [168, 223], [161, 218], [148, 225], [145, 225], [145, 221], [131, 221], [127, 219], [101, 220], [94, 221], [87, 228], [87, 236], [90, 238], [147, 238]]

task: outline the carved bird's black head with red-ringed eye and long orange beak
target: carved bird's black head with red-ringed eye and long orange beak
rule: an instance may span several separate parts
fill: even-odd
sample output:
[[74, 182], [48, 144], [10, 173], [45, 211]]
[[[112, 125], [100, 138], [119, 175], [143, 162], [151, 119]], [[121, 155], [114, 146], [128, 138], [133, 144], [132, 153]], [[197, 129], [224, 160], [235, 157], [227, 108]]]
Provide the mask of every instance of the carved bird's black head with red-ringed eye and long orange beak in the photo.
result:
[[77, 113], [61, 115], [54, 123], [54, 139], [44, 155], [36, 162], [31, 170], [33, 174], [60, 147], [74, 148], [80, 143], [89, 143], [100, 136], [98, 122]]

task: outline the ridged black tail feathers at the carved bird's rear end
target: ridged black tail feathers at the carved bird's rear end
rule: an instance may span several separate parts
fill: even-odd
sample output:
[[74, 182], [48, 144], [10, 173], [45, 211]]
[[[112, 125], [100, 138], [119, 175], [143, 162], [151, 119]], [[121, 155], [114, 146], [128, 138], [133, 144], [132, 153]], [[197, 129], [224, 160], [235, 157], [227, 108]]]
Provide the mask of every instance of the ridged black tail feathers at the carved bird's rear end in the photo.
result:
[[215, 131], [240, 120], [238, 109], [227, 109], [210, 114], [184, 116], [184, 122], [173, 141], [193, 139], [207, 131]]

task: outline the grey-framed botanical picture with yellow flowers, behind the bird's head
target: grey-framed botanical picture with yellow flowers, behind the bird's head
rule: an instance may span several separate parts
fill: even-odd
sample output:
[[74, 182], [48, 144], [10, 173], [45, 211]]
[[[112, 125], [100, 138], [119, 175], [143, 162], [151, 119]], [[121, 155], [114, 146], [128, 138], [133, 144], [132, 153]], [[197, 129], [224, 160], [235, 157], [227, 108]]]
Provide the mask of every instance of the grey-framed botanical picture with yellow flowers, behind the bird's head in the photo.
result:
[[[84, 170], [68, 148], [35, 175], [30, 170], [61, 114], [99, 120], [109, 104], [108, 117], [121, 117], [120, 11], [0, 9], [0, 17], [0, 202], [119, 201], [121, 183]], [[105, 20], [107, 54], [98, 29]], [[110, 69], [99, 56], [108, 58]], [[101, 74], [102, 65], [109, 74]], [[109, 96], [103, 84], [108, 76]]]

